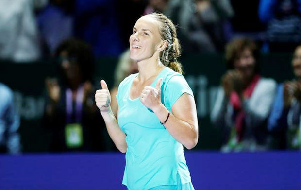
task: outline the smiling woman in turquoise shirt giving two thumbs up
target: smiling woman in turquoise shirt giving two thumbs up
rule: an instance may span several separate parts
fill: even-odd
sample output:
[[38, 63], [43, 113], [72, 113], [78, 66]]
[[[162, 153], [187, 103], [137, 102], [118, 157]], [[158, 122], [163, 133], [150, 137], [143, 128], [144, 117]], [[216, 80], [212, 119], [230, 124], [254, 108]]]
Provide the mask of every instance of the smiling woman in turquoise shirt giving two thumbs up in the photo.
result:
[[194, 190], [182, 145], [192, 149], [197, 144], [198, 120], [179, 56], [173, 23], [163, 14], [143, 16], [130, 37], [130, 58], [139, 72], [118, 87], [118, 121], [103, 80], [96, 91], [108, 133], [126, 152], [122, 184], [129, 190]]

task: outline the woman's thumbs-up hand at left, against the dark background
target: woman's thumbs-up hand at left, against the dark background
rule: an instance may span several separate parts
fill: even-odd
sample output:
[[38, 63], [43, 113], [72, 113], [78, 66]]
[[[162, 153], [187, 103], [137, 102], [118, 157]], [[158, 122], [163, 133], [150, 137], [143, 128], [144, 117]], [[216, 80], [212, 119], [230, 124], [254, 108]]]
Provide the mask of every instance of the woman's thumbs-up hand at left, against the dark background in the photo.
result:
[[97, 107], [101, 112], [106, 112], [110, 108], [111, 104], [111, 95], [108, 89], [107, 84], [104, 80], [100, 81], [101, 90], [96, 90], [95, 92], [95, 102]]

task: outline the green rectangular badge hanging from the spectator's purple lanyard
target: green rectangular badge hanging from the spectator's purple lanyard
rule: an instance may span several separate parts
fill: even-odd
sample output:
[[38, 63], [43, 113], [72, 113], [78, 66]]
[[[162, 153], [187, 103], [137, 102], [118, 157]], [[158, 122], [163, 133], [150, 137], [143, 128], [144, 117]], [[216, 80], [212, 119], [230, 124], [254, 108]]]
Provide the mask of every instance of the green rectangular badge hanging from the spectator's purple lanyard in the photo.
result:
[[83, 145], [83, 127], [79, 123], [67, 124], [65, 127], [67, 148], [78, 148]]

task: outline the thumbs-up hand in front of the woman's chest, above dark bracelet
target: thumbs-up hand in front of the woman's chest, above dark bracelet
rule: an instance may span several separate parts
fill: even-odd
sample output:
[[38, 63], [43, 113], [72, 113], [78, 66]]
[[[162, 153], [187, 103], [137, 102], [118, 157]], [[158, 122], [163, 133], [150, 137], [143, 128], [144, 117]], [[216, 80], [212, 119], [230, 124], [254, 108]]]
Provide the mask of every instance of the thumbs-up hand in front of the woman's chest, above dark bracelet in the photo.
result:
[[161, 104], [161, 82], [162, 78], [158, 79], [155, 88], [145, 86], [140, 94], [140, 102], [151, 110]]

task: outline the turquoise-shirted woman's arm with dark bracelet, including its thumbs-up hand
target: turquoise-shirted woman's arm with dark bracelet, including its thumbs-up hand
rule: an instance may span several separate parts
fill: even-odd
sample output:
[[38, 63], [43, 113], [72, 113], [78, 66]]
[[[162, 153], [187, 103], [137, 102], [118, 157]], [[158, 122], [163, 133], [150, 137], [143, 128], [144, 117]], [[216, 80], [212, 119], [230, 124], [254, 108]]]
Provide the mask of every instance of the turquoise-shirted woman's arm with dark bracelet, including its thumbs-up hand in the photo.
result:
[[[174, 81], [181, 80], [174, 78]], [[157, 81], [155, 88], [146, 86], [141, 94], [140, 101], [147, 108], [150, 108], [161, 122], [165, 122], [165, 128], [178, 142], [183, 144], [187, 149], [192, 149], [198, 143], [198, 116], [196, 103], [193, 96], [183, 93], [176, 96], [175, 102], [171, 106], [168, 119], [168, 109], [161, 102], [161, 82], [162, 78]], [[177, 82], [175, 82], [177, 83]], [[181, 91], [176, 86], [171, 86], [177, 92]]]

